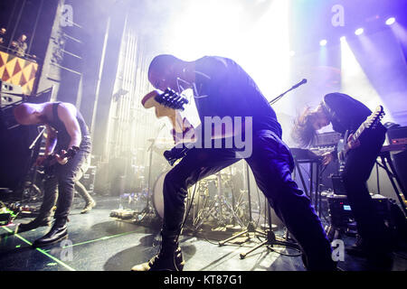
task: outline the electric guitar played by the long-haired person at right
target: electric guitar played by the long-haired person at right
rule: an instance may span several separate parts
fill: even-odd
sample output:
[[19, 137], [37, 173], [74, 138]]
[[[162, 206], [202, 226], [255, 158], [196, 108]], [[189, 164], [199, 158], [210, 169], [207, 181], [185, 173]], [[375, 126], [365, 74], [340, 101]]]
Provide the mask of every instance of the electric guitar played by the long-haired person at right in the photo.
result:
[[[366, 120], [362, 123], [361, 126], [359, 126], [359, 128], [355, 131], [355, 134], [352, 135], [349, 141], [351, 143], [355, 143], [359, 139], [360, 135], [362, 135], [366, 129], [374, 129], [384, 115], [385, 113], [383, 107], [382, 106], [376, 107], [374, 112], [369, 117], [366, 118]], [[344, 171], [346, 163], [346, 154], [350, 150], [349, 146], [347, 145], [348, 137], [349, 131], [346, 131], [344, 138], [341, 139], [337, 144], [337, 160], [339, 163], [339, 172]]]

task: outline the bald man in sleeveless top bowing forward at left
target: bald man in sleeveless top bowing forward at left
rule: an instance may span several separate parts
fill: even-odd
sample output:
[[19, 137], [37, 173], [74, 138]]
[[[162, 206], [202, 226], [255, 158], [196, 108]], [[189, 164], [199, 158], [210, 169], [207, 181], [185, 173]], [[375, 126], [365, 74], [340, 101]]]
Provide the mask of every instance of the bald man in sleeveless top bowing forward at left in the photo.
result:
[[[35, 164], [43, 164], [52, 153], [57, 160], [53, 173], [44, 182], [43, 204], [39, 216], [25, 226], [25, 229], [31, 229], [46, 224], [50, 219], [52, 207], [57, 205], [52, 228], [33, 243], [34, 247], [41, 247], [68, 236], [67, 220], [74, 186], [80, 177], [81, 167], [86, 165], [90, 155], [90, 134], [78, 109], [66, 102], [23, 103], [14, 108], [14, 117], [21, 125], [46, 127], [45, 152], [38, 157]], [[64, 157], [66, 152], [74, 149], [77, 152], [71, 159]]]

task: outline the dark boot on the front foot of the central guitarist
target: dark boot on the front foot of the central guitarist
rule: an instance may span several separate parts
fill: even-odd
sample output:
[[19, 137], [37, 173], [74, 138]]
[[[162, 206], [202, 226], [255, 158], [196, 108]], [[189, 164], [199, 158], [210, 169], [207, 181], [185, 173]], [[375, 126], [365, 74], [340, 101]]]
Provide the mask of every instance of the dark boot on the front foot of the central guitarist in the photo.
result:
[[131, 271], [182, 271], [185, 261], [175, 238], [164, 238], [160, 251], [148, 262], [133, 266]]

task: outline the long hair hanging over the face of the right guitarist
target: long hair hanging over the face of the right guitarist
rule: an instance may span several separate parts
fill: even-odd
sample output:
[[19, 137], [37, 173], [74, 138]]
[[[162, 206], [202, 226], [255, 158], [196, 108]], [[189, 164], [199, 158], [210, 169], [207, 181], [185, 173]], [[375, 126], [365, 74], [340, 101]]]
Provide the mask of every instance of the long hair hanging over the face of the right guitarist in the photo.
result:
[[291, 137], [301, 147], [309, 147], [314, 144], [317, 138], [317, 131], [312, 125], [314, 119], [315, 114], [310, 107], [306, 107], [294, 121]]

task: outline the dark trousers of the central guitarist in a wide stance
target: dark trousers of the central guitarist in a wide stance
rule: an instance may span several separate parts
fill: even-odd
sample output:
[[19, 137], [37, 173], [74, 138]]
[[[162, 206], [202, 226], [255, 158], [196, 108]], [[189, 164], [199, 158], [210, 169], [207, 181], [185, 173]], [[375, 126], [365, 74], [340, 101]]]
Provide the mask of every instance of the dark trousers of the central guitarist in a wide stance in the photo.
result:
[[[167, 172], [164, 182], [163, 237], [179, 234], [185, 214], [187, 189], [205, 177], [236, 163], [234, 149], [194, 148]], [[330, 270], [334, 266], [331, 247], [310, 200], [291, 179], [294, 169], [289, 148], [270, 130], [253, 134], [250, 165], [260, 190], [269, 200], [293, 238], [298, 241], [308, 269]]]

